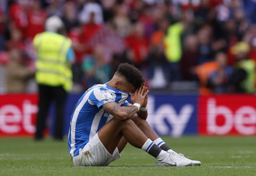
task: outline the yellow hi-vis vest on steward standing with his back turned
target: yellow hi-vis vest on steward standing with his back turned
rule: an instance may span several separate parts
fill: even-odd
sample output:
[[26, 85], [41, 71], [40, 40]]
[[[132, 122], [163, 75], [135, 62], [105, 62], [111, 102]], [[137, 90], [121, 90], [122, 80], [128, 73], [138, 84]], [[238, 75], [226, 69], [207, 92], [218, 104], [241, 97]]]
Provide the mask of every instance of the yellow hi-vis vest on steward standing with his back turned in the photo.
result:
[[67, 92], [71, 90], [71, 64], [66, 59], [71, 44], [70, 39], [53, 32], [42, 32], [35, 36], [33, 45], [37, 53], [37, 83], [63, 86]]

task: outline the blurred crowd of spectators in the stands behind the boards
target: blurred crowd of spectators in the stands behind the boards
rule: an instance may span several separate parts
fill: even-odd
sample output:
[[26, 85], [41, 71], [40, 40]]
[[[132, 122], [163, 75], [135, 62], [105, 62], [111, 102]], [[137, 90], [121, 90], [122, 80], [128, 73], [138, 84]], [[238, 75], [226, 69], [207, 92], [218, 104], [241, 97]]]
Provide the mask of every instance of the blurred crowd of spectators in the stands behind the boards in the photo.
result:
[[75, 51], [73, 92], [128, 62], [151, 89], [197, 81], [201, 94], [254, 93], [256, 0], [0, 0], [0, 92], [27, 90], [32, 41], [52, 15]]

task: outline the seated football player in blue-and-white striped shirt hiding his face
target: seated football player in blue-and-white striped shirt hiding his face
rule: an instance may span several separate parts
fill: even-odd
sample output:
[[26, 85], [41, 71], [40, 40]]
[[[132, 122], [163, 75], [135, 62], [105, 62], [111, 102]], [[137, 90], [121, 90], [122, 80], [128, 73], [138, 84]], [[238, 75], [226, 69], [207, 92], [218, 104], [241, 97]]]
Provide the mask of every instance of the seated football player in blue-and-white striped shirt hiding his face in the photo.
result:
[[106, 166], [121, 157], [127, 142], [155, 157], [158, 166], [201, 165], [173, 151], [149, 126], [147, 103], [142, 74], [127, 63], [110, 81], [89, 88], [70, 120], [68, 149], [74, 165]]

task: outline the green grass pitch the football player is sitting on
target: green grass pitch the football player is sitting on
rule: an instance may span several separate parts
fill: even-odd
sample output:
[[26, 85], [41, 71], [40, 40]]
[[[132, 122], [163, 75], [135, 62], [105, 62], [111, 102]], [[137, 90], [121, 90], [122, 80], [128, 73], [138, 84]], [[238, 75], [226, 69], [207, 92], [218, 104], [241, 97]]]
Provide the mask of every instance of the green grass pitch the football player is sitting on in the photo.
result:
[[157, 167], [155, 158], [127, 145], [122, 158], [107, 167], [74, 167], [66, 142], [47, 138], [0, 138], [0, 176], [50, 175], [256, 175], [256, 137], [162, 137], [173, 150], [201, 166]]

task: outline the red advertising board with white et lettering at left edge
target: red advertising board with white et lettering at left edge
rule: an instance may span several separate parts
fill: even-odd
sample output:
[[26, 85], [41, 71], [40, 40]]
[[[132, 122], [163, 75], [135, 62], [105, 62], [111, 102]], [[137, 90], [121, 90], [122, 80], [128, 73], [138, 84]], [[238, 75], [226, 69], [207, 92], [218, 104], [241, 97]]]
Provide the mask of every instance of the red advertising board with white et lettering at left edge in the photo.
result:
[[36, 94], [0, 95], [0, 135], [33, 135], [37, 101]]

